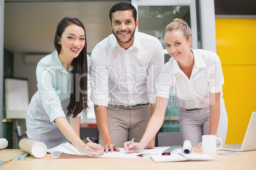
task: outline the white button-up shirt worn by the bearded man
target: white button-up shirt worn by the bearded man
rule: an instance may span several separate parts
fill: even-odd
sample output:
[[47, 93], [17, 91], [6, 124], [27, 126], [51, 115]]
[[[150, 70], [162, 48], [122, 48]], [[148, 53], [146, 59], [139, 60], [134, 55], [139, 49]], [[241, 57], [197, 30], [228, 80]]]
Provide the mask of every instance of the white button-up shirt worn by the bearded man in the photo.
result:
[[164, 66], [159, 39], [136, 32], [125, 50], [113, 34], [92, 50], [90, 98], [96, 105], [132, 106], [155, 103], [155, 78]]

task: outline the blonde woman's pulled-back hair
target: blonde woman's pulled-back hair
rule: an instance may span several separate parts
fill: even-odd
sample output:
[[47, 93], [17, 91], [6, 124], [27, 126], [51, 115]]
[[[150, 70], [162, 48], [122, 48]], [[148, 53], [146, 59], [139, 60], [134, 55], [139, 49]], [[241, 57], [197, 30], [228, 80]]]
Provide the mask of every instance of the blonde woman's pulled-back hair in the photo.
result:
[[166, 27], [164, 34], [166, 34], [167, 31], [172, 31], [172, 30], [180, 30], [187, 41], [190, 37], [192, 37], [192, 32], [190, 27], [188, 27], [187, 23], [182, 19], [175, 18], [173, 22], [169, 23]]

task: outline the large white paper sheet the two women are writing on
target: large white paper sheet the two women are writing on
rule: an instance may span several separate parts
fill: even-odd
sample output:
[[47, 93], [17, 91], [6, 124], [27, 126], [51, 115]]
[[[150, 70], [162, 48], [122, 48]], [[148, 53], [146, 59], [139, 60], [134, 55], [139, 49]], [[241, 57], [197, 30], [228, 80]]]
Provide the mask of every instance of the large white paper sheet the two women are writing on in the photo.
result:
[[[127, 154], [124, 150], [124, 148], [120, 148], [120, 152], [108, 152], [104, 153], [104, 155], [100, 157], [104, 158], [141, 158], [141, 157], [150, 157], [150, 155], [161, 155], [162, 151], [166, 150], [169, 147], [155, 147], [153, 149], [145, 149], [141, 153], [131, 153]], [[80, 156], [87, 156], [92, 157], [92, 155], [80, 153], [70, 143], [62, 143], [58, 145], [57, 147], [50, 148], [47, 150], [50, 154], [52, 154], [53, 158], [59, 158], [62, 153], [64, 154], [70, 154], [70, 155], [80, 155]], [[138, 154], [143, 154], [142, 156], [138, 157]]]

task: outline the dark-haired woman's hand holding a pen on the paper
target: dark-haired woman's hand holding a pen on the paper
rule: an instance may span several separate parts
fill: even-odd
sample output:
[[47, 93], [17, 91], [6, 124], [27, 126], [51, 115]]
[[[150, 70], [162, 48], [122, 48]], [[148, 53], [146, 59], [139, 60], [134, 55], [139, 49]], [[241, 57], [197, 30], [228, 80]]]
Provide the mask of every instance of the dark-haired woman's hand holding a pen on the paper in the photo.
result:
[[81, 148], [78, 148], [78, 151], [92, 156], [101, 156], [104, 154], [103, 147], [101, 147], [101, 145], [90, 142], [86, 143]]

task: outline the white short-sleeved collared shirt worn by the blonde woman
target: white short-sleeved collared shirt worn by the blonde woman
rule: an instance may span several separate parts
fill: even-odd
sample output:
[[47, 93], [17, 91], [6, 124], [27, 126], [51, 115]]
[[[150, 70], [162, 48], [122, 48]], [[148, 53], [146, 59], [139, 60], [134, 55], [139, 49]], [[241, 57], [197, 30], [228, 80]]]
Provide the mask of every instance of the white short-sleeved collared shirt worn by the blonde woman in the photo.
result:
[[157, 79], [157, 96], [169, 98], [170, 88], [176, 93], [176, 102], [183, 108], [209, 107], [210, 94], [221, 93], [224, 84], [222, 65], [216, 53], [203, 49], [192, 49], [194, 67], [190, 79], [180, 69], [178, 62], [170, 58]]

